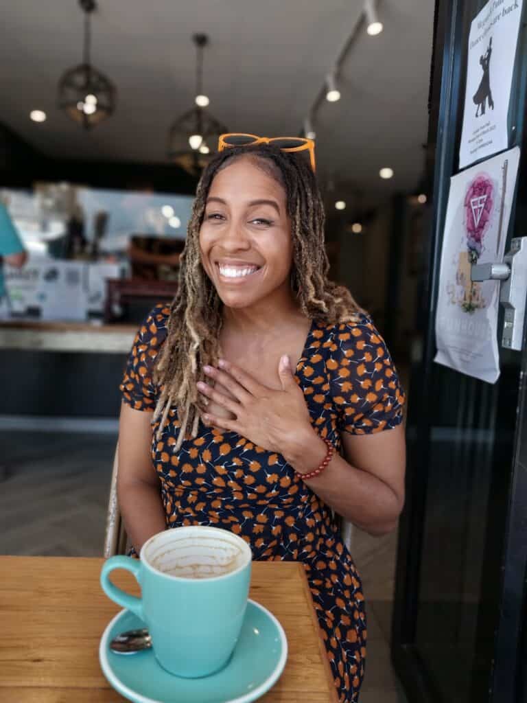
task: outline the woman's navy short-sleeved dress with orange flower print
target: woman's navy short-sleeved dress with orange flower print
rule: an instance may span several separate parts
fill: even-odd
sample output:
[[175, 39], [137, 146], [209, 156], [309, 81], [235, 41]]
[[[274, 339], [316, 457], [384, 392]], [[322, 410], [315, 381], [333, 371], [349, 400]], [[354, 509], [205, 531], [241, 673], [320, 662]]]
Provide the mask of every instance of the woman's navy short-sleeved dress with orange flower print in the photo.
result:
[[[167, 336], [169, 308], [152, 310], [138, 331], [120, 389], [140, 411], [155, 408], [152, 365]], [[295, 369], [311, 424], [341, 449], [341, 432], [370, 434], [403, 419], [403, 389], [369, 316], [336, 325], [313, 320]], [[154, 434], [158, 423], [152, 425]], [[304, 564], [341, 703], [355, 703], [365, 668], [366, 616], [360, 577], [332, 510], [294, 475], [279, 453], [200, 422], [197, 437], [174, 446], [180, 423], [171, 408], [152, 439], [167, 527], [213, 525], [249, 542], [255, 560]]]

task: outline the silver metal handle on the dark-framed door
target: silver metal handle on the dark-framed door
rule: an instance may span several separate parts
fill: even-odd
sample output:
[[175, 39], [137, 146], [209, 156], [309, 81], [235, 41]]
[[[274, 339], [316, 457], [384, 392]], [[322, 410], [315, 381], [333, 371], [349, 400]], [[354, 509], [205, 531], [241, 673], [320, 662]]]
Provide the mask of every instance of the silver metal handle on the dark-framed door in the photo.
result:
[[505, 309], [502, 347], [521, 349], [527, 297], [527, 237], [515, 237], [502, 262], [472, 264], [473, 281], [500, 280], [500, 303]]

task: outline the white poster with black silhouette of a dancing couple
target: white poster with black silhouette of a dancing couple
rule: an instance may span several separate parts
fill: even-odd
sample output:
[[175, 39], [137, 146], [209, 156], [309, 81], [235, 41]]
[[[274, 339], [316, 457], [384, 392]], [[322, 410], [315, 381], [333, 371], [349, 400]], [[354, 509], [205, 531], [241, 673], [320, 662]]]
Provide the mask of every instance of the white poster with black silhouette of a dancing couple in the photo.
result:
[[507, 115], [523, 0], [489, 0], [470, 25], [460, 169], [509, 146]]

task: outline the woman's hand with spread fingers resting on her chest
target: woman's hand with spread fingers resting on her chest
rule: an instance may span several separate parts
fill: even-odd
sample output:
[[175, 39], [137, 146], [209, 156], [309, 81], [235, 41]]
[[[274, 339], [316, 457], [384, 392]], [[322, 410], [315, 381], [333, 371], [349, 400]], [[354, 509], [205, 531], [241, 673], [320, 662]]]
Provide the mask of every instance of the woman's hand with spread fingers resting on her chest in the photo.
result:
[[[284, 360], [287, 359], [287, 364]], [[235, 400], [216, 391], [207, 383], [198, 382], [202, 394], [235, 415], [234, 420], [205, 413], [204, 420], [224, 430], [238, 432], [242, 437], [267, 451], [283, 453], [298, 432], [311, 428], [304, 393], [294, 380], [289, 358], [282, 356], [278, 363], [281, 390], [262, 385], [239, 366], [220, 359], [219, 369], [204, 366], [207, 376], [218, 381]]]

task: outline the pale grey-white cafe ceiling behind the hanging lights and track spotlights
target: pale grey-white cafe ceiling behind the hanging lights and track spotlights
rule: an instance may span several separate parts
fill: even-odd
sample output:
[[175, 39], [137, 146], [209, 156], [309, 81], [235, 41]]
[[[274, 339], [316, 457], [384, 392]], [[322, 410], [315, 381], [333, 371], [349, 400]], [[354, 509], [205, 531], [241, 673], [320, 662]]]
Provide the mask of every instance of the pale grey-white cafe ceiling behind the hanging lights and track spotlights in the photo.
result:
[[[117, 110], [91, 132], [56, 107], [82, 58], [77, 0], [0, 0], [0, 122], [57, 157], [166, 162], [167, 130], [193, 105], [195, 32], [209, 34], [204, 91], [232, 131], [299, 134], [353, 28], [361, 0], [98, 0], [93, 65], [117, 85]], [[412, 191], [422, 174], [434, 0], [381, 0], [384, 32], [360, 32], [338, 103], [320, 106], [317, 157], [336, 195]], [[29, 119], [34, 108], [48, 120]], [[391, 166], [395, 177], [379, 179]]]

